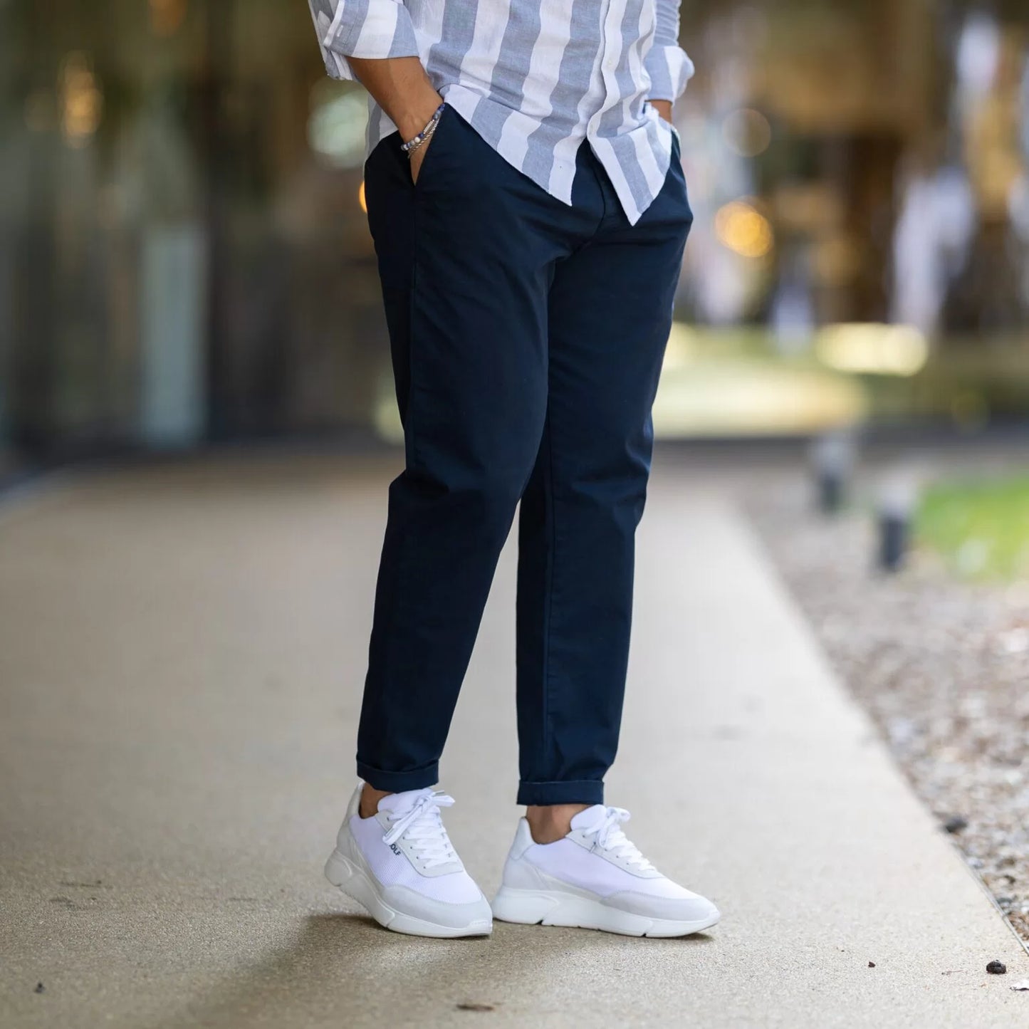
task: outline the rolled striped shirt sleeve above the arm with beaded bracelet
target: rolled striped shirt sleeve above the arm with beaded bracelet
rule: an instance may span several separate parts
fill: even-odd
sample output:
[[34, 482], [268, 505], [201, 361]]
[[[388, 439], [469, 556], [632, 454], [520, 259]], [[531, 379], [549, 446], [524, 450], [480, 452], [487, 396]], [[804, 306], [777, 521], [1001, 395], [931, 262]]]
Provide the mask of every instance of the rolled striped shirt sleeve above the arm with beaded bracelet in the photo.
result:
[[354, 78], [349, 58], [417, 58], [418, 40], [400, 0], [309, 0], [325, 68]]

